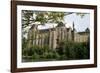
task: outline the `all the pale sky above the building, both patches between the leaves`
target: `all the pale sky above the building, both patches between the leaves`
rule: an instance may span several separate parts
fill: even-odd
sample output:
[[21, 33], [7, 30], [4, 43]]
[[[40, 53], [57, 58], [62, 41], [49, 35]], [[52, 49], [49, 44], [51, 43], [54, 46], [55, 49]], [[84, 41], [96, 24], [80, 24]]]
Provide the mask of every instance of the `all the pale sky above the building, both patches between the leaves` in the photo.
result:
[[[66, 27], [73, 28], [73, 23], [77, 32], [85, 31], [86, 28], [89, 28], [90, 25], [90, 14], [85, 14], [83, 17], [77, 15], [76, 13], [72, 13], [70, 15], [66, 15], [64, 17], [64, 22]], [[47, 23], [45, 25], [39, 25], [39, 29], [48, 29], [56, 27], [57, 24]]]

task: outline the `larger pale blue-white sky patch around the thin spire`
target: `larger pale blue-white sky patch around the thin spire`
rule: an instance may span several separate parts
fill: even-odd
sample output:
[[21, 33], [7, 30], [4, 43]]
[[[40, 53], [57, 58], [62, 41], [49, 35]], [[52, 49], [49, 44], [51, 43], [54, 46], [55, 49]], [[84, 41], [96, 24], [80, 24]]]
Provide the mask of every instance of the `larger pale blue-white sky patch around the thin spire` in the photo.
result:
[[75, 25], [75, 29], [78, 32], [84, 31], [86, 28], [90, 26], [90, 14], [85, 14], [83, 18], [80, 15], [76, 15], [76, 13], [67, 15], [64, 17], [66, 25], [71, 26]]

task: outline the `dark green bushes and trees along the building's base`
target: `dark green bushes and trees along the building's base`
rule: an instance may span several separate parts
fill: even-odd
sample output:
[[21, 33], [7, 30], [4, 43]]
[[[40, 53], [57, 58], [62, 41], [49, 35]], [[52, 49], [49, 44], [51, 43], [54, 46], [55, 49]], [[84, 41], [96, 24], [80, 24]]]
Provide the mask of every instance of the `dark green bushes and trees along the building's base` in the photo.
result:
[[79, 60], [89, 59], [89, 42], [71, 42], [62, 41], [56, 49], [49, 48], [48, 45], [43, 47], [34, 45], [30, 49], [23, 49], [23, 56], [29, 61], [53, 61], [53, 60]]

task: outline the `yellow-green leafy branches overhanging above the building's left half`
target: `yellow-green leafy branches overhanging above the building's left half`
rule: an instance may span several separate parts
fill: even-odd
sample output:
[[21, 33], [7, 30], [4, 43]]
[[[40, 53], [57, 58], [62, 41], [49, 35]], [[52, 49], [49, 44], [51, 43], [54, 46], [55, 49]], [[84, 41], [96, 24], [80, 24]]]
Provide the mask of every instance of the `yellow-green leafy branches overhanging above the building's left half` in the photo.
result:
[[[33, 17], [35, 14], [35, 18]], [[48, 11], [32, 11], [23, 10], [22, 11], [22, 27], [25, 28], [29, 26], [30, 23], [40, 22], [40, 24], [49, 23], [59, 23], [64, 19], [64, 12], [48, 12]], [[31, 19], [30, 19], [31, 18]]]

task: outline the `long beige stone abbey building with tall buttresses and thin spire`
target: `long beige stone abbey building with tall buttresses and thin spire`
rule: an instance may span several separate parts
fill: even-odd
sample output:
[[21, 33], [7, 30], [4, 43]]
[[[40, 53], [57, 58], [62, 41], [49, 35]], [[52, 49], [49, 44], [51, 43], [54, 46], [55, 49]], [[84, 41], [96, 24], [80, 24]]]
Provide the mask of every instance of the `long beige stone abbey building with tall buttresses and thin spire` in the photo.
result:
[[89, 40], [89, 30], [84, 32], [76, 32], [73, 23], [73, 29], [71, 27], [65, 27], [65, 24], [58, 24], [54, 28], [38, 29], [38, 25], [33, 24], [28, 32], [29, 47], [32, 45], [38, 45], [43, 47], [48, 45], [49, 48], [57, 48], [61, 41], [73, 41], [73, 42], [87, 42]]

